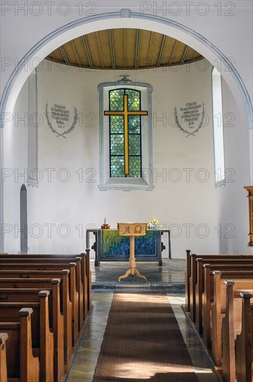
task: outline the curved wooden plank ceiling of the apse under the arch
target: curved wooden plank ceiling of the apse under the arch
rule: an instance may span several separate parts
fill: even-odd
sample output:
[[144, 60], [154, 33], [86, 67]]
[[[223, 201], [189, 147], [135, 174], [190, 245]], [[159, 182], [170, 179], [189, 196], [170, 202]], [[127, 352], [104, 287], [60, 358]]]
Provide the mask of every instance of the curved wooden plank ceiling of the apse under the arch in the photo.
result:
[[148, 69], [183, 65], [203, 57], [179, 40], [142, 29], [107, 29], [81, 35], [48, 60], [90, 69]]

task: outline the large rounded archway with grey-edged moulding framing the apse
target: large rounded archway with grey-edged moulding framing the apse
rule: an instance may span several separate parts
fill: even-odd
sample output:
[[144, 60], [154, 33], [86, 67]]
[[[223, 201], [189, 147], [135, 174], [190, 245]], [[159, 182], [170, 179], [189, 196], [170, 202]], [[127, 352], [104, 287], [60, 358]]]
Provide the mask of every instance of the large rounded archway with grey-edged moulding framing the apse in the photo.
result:
[[101, 31], [106, 28], [134, 28], [136, 26], [157, 33], [164, 33], [177, 40], [181, 40], [207, 58], [214, 67], [218, 68], [225, 78], [229, 88], [235, 94], [238, 106], [241, 108], [243, 106], [245, 107], [249, 127], [252, 127], [253, 112], [250, 96], [238, 72], [223, 52], [211, 44], [203, 35], [178, 22], [155, 15], [131, 13], [130, 10], [121, 10], [121, 12], [106, 13], [78, 19], [75, 22], [56, 29], [53, 33], [50, 33], [41, 41], [37, 42], [37, 44], [27, 52], [26, 56], [21, 60], [9, 78], [1, 99], [1, 126], [4, 125], [5, 120], [8, 121], [8, 118], [5, 119], [5, 117], [12, 113], [17, 96], [30, 73], [33, 72], [37, 65], [40, 65], [42, 60], [53, 51], [53, 49], [64, 44], [64, 42], [86, 33]]

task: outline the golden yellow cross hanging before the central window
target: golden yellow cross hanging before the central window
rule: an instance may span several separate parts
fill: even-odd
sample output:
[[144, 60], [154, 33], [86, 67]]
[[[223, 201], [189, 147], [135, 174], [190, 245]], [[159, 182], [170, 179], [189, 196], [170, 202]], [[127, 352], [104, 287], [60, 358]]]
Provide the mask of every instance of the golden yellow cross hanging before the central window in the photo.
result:
[[128, 142], [128, 115], [148, 115], [148, 111], [130, 111], [128, 110], [128, 94], [124, 94], [123, 111], [104, 111], [104, 115], [123, 115], [124, 119], [124, 157], [125, 157], [125, 175], [129, 174], [129, 142]]

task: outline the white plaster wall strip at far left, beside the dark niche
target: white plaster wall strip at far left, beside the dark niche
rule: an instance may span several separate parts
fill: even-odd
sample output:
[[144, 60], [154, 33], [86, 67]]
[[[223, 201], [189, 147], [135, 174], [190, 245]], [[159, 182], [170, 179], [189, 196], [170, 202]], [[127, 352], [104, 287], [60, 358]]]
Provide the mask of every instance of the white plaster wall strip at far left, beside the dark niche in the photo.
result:
[[27, 188], [28, 81], [19, 94], [11, 121], [3, 129], [3, 142], [1, 180], [4, 223], [1, 235], [4, 250], [16, 254], [20, 251], [20, 188], [23, 183]]

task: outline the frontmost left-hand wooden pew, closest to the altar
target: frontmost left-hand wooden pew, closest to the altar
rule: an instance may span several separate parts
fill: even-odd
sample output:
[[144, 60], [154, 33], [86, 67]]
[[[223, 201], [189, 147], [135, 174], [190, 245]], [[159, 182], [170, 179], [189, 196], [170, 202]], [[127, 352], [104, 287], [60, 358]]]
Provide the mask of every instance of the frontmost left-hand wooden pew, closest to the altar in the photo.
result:
[[[61, 254], [0, 254], [0, 262], [1, 259], [6, 257], [11, 258], [65, 258], [69, 259], [69, 263], [74, 261], [77, 257], [81, 259], [81, 280], [84, 288], [83, 293], [83, 306], [84, 306], [84, 316], [83, 319], [87, 318], [87, 313], [91, 310], [91, 270], [90, 270], [90, 260], [89, 260], [89, 249], [86, 250], [85, 254], [73, 255], [61, 255]], [[87, 291], [87, 293], [85, 292]]]

